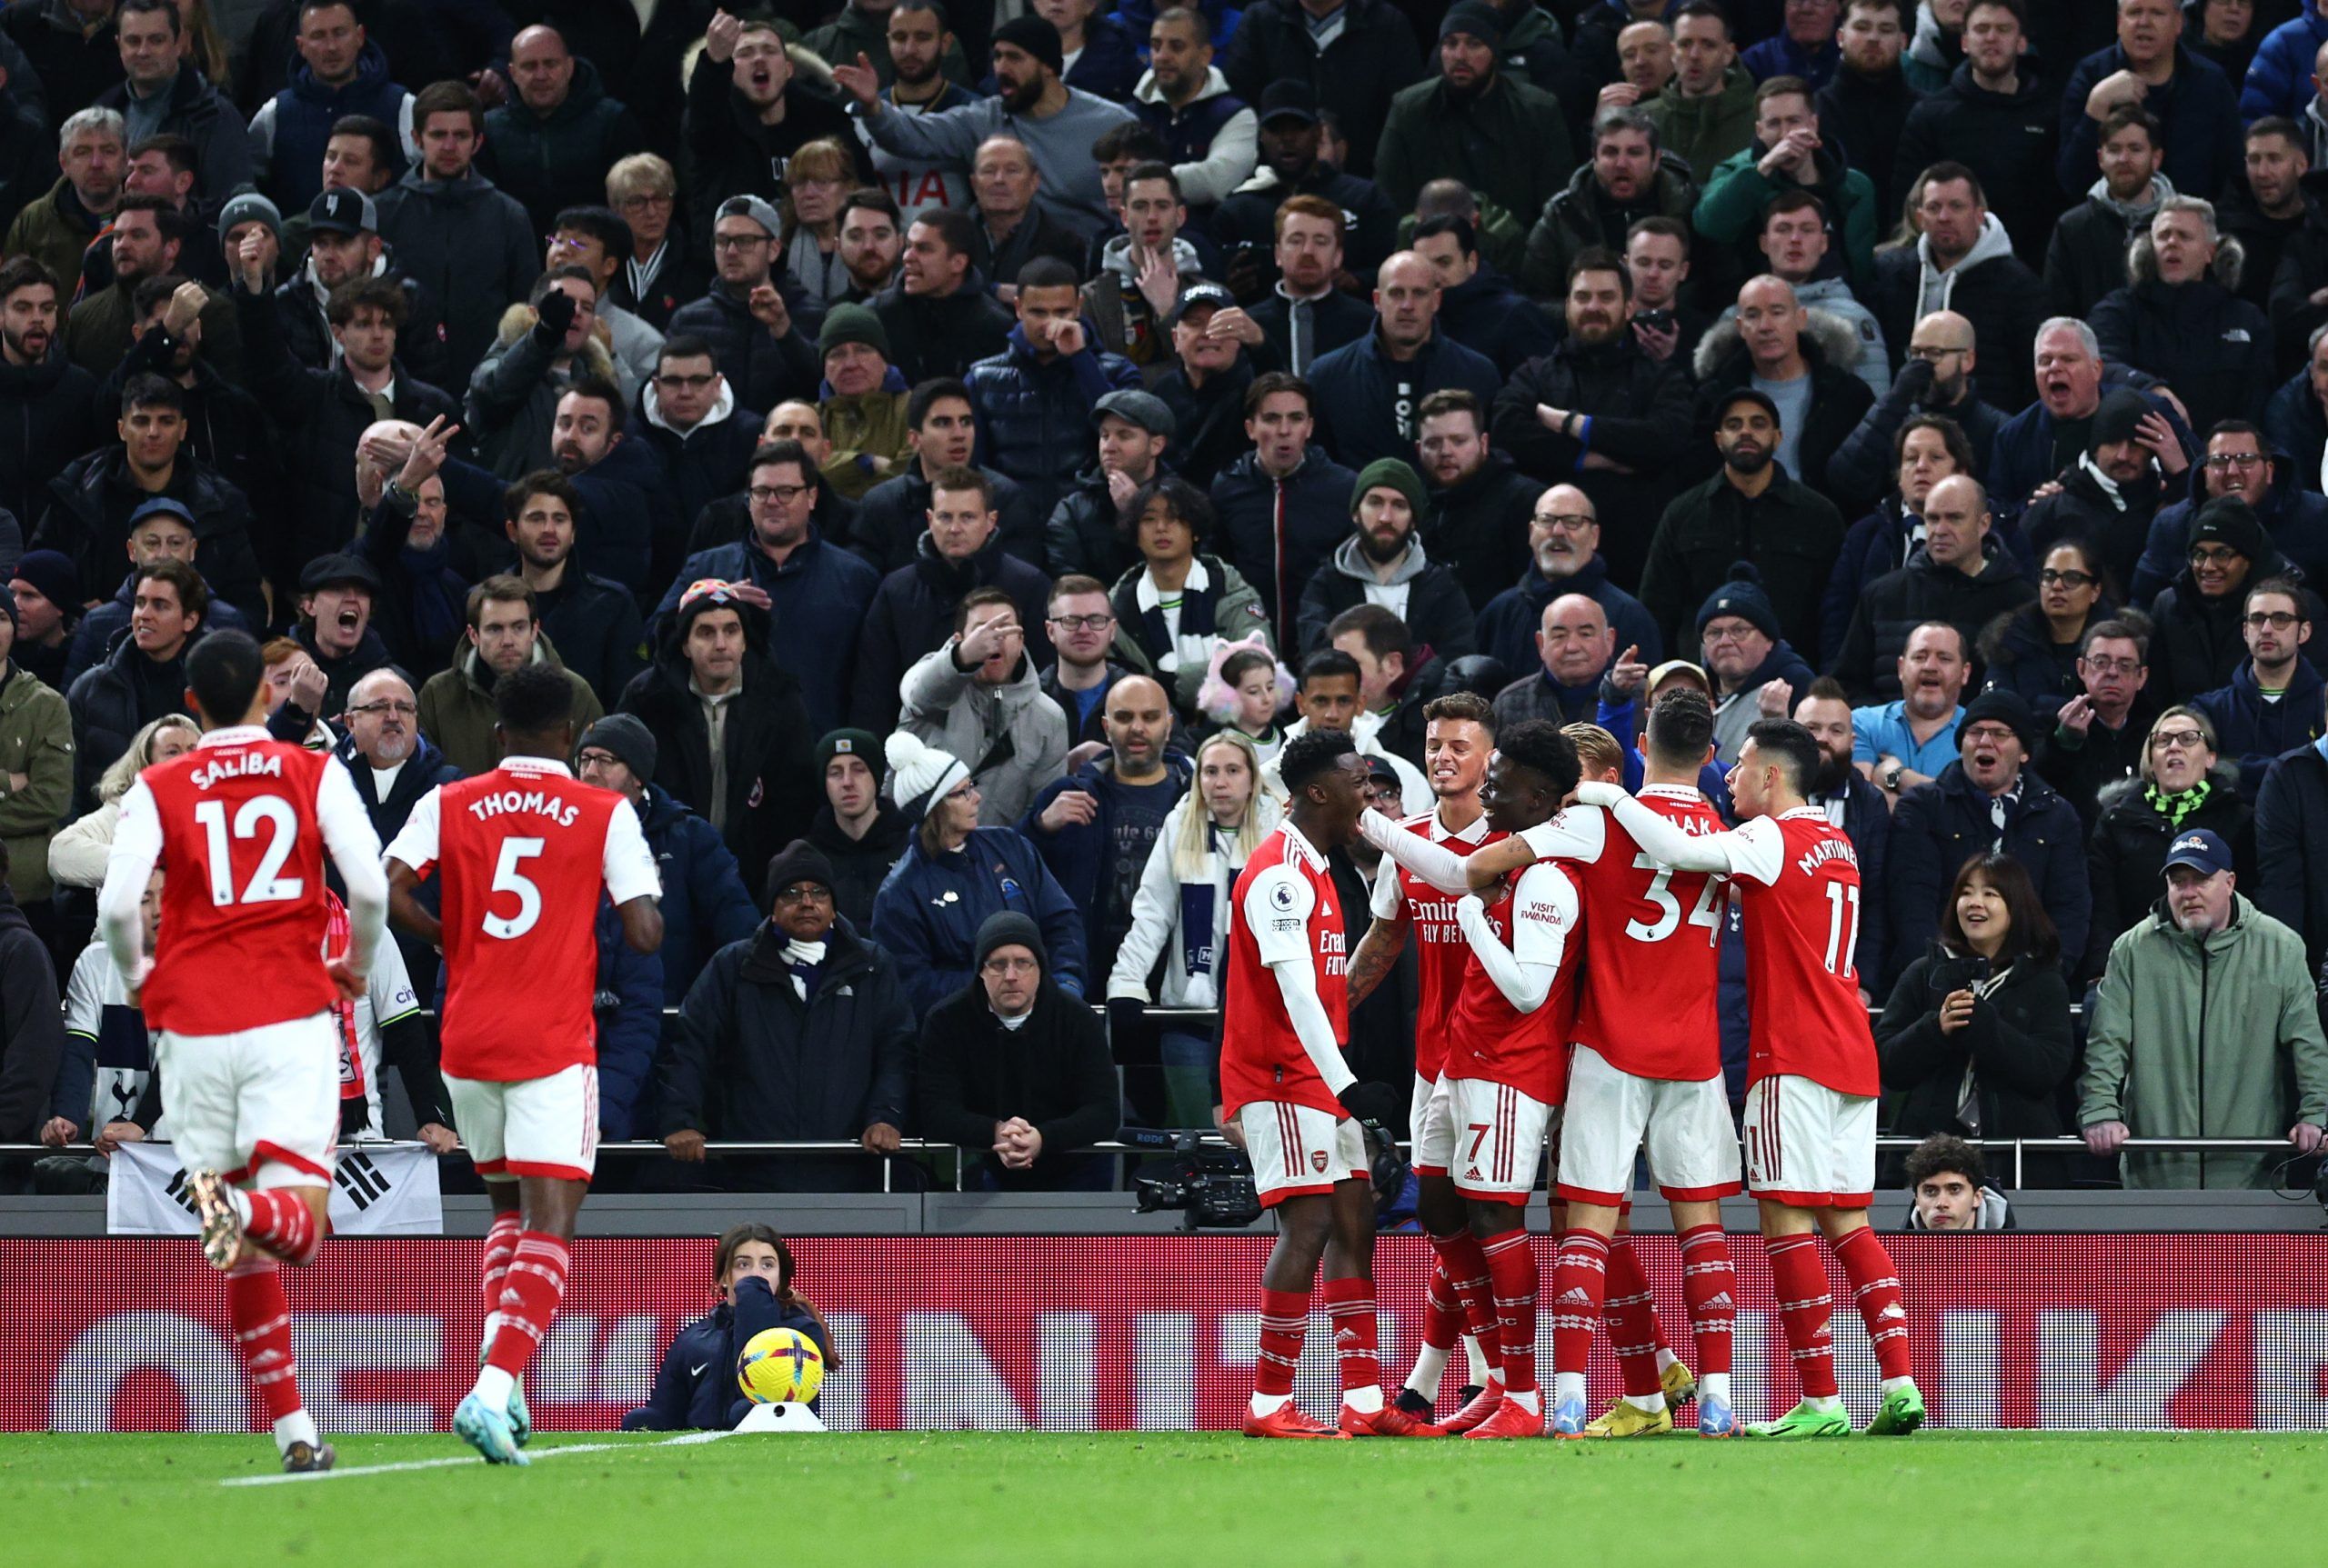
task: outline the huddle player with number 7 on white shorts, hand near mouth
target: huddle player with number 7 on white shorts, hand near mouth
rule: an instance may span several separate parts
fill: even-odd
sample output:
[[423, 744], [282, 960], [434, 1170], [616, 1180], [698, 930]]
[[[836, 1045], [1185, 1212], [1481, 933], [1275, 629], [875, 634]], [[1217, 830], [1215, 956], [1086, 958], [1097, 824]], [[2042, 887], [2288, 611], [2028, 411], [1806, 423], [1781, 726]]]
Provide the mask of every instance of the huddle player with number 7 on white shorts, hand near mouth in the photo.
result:
[[[1481, 805], [1497, 833], [1550, 821], [1576, 789], [1576, 747], [1557, 726], [1523, 719], [1502, 730]], [[1471, 963], [1448, 1019], [1443, 1082], [1455, 1124], [1455, 1191], [1488, 1256], [1495, 1287], [1504, 1403], [1467, 1438], [1541, 1438], [1536, 1387], [1536, 1252], [1527, 1238], [1527, 1193], [1543, 1163], [1543, 1138], [1564, 1098], [1569, 1026], [1576, 1021], [1576, 965], [1564, 961], [1583, 905], [1562, 865], [1539, 861], [1485, 903], [1455, 903]]]

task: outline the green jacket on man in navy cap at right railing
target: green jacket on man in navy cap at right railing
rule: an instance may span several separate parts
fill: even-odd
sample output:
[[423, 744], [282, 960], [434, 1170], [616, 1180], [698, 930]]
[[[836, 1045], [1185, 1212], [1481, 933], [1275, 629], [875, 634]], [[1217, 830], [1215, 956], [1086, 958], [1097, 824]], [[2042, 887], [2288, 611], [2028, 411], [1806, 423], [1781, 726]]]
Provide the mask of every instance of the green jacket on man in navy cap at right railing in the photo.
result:
[[[2305, 940], [2233, 896], [2205, 942], [2156, 910], [2109, 945], [2077, 1124], [2135, 1138], [2279, 1138], [2328, 1121]], [[2293, 1149], [2291, 1149], [2293, 1154]], [[2125, 1154], [2128, 1186], [2270, 1186], [2279, 1154]]]

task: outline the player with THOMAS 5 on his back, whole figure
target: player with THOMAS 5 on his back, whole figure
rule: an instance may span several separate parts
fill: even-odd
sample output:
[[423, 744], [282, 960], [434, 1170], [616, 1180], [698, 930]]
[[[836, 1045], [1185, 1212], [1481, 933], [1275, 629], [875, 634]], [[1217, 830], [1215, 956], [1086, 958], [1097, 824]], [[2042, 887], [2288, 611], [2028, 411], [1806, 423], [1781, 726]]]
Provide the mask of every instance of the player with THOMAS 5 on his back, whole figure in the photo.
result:
[[[524, 1377], [566, 1296], [598, 1156], [598, 900], [633, 952], [663, 945], [661, 882], [631, 803], [577, 782], [573, 684], [556, 665], [494, 682], [501, 765], [421, 796], [389, 844], [396, 924], [445, 952], [445, 1091], [484, 1191], [484, 1340], [452, 1428], [526, 1463]], [[442, 919], [414, 896], [440, 877]]]

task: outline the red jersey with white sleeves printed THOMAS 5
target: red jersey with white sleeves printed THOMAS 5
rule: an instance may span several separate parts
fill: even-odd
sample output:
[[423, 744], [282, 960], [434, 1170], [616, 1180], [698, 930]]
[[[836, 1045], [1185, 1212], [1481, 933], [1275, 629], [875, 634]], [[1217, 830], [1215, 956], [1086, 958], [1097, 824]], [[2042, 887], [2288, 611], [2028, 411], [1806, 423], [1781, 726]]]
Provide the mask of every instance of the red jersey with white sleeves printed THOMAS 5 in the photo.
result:
[[538, 756], [421, 796], [389, 856], [442, 872], [445, 1072], [549, 1077], [598, 1056], [598, 896], [656, 896], [631, 803]]

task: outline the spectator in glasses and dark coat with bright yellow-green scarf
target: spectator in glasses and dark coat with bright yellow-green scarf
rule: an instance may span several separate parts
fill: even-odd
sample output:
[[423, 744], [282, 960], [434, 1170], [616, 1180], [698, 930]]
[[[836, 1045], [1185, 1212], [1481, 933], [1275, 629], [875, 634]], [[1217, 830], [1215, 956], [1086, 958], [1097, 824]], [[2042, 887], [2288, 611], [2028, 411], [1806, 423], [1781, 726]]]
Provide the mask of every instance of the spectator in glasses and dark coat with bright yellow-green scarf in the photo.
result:
[[[2319, 686], [2312, 712], [2319, 714]], [[2158, 872], [2167, 844], [2205, 828], [2230, 844], [2233, 868], [2254, 884], [2256, 817], [2240, 796], [2240, 770], [2221, 756], [2212, 717], [2198, 707], [2170, 707], [2151, 724], [2142, 749], [2142, 772], [2102, 789], [2098, 821], [2086, 849], [2093, 882], [2093, 935], [2079, 975], [2098, 979], [2109, 945], [2142, 924], [2158, 903]]]

